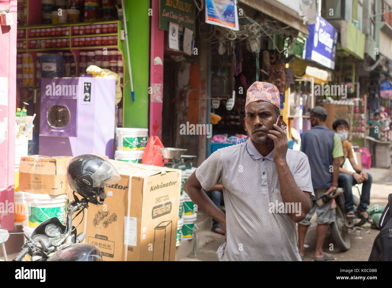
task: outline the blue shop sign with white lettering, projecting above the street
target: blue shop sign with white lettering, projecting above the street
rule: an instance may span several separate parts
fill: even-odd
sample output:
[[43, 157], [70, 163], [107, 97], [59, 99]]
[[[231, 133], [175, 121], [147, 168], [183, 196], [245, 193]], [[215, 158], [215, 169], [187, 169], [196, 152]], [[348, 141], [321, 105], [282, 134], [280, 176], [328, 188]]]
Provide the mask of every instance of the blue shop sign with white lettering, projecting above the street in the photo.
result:
[[313, 60], [330, 69], [335, 68], [338, 30], [317, 14], [316, 24], [308, 25], [305, 59]]

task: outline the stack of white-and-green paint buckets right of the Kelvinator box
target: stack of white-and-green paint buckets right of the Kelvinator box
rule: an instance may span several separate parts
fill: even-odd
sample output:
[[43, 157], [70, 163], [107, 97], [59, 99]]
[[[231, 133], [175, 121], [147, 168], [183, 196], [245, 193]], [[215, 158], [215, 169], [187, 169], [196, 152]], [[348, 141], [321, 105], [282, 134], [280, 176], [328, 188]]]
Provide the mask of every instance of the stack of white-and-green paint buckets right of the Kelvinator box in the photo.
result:
[[194, 237], [194, 225], [196, 223], [197, 214], [194, 210], [194, 203], [183, 190], [183, 185], [196, 169], [197, 168], [192, 167], [191, 169], [183, 170], [181, 173], [180, 210], [178, 212], [176, 246], [180, 246], [181, 239], [189, 240]]

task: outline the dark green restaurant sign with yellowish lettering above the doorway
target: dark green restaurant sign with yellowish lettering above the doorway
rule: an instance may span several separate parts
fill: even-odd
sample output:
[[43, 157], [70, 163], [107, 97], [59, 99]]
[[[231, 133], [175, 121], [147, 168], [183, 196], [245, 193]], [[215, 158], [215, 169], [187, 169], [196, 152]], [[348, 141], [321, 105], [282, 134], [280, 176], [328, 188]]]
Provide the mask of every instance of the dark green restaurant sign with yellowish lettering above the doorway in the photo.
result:
[[160, 0], [159, 28], [169, 30], [169, 22], [174, 22], [180, 33], [185, 27], [195, 31], [195, 8], [193, 0]]

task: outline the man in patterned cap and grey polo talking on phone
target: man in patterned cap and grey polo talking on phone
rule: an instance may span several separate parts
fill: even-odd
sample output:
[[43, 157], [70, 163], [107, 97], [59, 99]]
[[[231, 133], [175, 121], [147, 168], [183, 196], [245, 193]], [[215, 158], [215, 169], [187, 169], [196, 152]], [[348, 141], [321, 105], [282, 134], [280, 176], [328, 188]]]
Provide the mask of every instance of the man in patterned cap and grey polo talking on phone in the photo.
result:
[[[220, 261], [301, 261], [295, 223], [305, 219], [314, 192], [307, 156], [288, 149], [285, 127], [276, 125], [279, 107], [276, 86], [254, 82], [245, 103], [250, 140], [218, 149], [184, 183], [192, 201], [223, 227]], [[226, 214], [201, 190], [216, 183]]]

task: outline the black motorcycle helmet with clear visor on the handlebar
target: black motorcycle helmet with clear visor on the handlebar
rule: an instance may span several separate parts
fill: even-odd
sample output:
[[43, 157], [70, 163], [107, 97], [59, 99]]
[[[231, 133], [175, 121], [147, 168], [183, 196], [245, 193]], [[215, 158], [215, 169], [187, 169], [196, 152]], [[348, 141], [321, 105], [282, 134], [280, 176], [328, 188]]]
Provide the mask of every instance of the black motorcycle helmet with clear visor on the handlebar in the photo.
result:
[[120, 181], [121, 177], [109, 161], [96, 155], [84, 154], [69, 162], [67, 179], [72, 190], [86, 201], [99, 205], [106, 198], [104, 187]]

